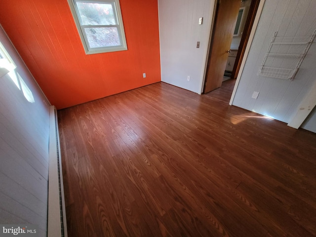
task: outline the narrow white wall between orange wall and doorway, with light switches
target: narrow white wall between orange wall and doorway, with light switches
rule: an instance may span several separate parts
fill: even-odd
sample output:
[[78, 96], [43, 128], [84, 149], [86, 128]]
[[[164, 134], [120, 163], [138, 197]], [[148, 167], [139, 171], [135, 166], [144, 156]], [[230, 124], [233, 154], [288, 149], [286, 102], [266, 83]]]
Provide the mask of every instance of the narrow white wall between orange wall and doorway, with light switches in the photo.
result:
[[162, 81], [201, 92], [214, 4], [215, 0], [158, 0]]

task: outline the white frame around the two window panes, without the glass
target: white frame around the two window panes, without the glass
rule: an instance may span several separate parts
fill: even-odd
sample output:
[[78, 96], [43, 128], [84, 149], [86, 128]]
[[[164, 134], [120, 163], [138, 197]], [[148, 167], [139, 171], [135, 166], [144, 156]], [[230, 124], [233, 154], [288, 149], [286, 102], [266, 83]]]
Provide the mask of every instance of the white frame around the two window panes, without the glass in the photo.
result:
[[[117, 18], [118, 25], [82, 25], [80, 22], [79, 17], [79, 11], [77, 8], [77, 1], [81, 2], [95, 2], [95, 3], [108, 3], [113, 5], [114, 13]], [[119, 0], [68, 0], [71, 12], [73, 14], [79, 36], [85, 51], [85, 54], [95, 54], [95, 53], [106, 53], [106, 52], [115, 52], [115, 51], [123, 51], [127, 50], [127, 44], [126, 44], [126, 38], [124, 33], [124, 26], [123, 26], [123, 20], [122, 20], [122, 14], [120, 11], [120, 5]], [[118, 46], [106, 46], [106, 47], [97, 47], [97, 48], [91, 48], [89, 47], [88, 40], [86, 38], [84, 28], [85, 27], [117, 27], [118, 29], [118, 36], [119, 40], [121, 42], [121, 45]]]

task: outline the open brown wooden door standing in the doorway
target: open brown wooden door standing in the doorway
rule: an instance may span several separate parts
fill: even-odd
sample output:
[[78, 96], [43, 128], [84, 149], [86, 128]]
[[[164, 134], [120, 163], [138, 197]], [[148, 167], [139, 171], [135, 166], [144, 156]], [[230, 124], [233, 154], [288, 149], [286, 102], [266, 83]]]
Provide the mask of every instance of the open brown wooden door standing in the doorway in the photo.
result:
[[221, 87], [240, 0], [219, 0], [207, 64], [204, 93]]

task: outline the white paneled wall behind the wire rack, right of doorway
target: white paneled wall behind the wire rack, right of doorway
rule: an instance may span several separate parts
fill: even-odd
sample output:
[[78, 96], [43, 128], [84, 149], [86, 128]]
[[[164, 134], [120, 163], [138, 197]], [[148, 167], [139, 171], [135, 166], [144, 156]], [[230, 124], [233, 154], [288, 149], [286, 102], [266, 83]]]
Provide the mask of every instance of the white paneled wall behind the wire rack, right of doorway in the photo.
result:
[[[257, 76], [271, 37], [309, 36], [316, 29], [315, 0], [266, 0], [242, 71], [233, 105], [288, 123], [316, 82], [316, 42], [308, 51], [293, 81]], [[286, 64], [283, 65], [286, 68]], [[259, 91], [257, 99], [252, 93]], [[309, 118], [315, 123], [316, 115]], [[308, 129], [305, 125], [305, 128]], [[314, 125], [315, 127], [315, 125]]]

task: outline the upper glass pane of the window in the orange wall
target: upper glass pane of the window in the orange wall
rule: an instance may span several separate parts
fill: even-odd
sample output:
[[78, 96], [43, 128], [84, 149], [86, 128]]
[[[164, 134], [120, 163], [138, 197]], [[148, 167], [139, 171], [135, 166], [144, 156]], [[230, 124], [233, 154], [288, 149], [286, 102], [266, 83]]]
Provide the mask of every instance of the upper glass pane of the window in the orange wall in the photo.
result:
[[117, 25], [112, 4], [80, 1], [76, 3], [82, 25]]

